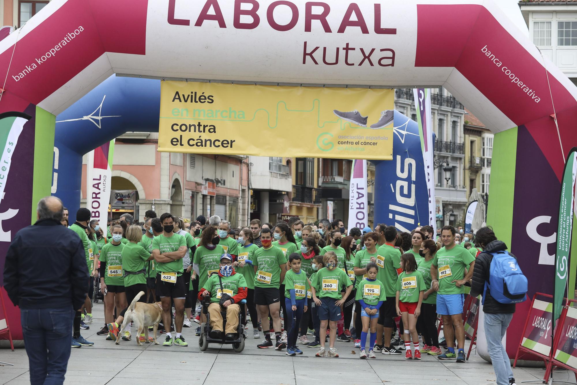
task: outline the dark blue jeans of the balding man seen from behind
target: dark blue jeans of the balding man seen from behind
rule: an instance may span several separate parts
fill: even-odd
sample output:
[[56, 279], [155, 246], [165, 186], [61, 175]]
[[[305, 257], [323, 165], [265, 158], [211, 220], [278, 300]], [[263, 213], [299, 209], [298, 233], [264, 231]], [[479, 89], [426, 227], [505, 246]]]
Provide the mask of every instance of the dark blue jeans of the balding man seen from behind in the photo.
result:
[[70, 358], [72, 306], [60, 309], [20, 309], [30, 383], [62, 384]]

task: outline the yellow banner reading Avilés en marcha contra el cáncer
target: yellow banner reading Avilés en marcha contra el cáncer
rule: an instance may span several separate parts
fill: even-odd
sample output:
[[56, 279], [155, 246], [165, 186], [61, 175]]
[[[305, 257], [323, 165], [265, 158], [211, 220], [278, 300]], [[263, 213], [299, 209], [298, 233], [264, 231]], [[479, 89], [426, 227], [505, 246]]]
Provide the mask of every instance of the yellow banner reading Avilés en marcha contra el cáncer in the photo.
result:
[[392, 90], [162, 82], [158, 150], [391, 160]]

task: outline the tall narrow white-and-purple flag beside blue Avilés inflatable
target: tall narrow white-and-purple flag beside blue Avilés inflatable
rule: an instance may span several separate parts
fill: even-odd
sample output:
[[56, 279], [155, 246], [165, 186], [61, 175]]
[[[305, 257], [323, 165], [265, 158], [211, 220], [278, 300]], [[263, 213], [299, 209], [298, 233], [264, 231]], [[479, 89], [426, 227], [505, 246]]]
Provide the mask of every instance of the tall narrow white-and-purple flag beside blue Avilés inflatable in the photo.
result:
[[[437, 220], [435, 219], [434, 200], [434, 175], [433, 175], [433, 118], [431, 115], [431, 95], [429, 88], [413, 88], [415, 97], [415, 109], [417, 109], [417, 124], [421, 136], [421, 150], [423, 151], [423, 164], [425, 166], [425, 180], [427, 182], [427, 195], [429, 199], [429, 223], [433, 227], [433, 234], [437, 232]], [[421, 225], [425, 225], [421, 223]]]

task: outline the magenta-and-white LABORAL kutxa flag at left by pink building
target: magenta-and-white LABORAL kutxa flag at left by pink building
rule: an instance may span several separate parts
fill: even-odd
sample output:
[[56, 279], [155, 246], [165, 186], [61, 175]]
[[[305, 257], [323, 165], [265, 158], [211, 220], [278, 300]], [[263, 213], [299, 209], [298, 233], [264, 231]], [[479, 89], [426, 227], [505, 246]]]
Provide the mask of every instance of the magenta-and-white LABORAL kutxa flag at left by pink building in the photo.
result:
[[114, 139], [88, 153], [86, 169], [86, 206], [91, 212], [91, 219], [100, 223], [104, 236], [108, 220], [108, 202], [112, 187], [112, 160]]

